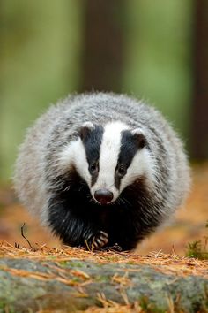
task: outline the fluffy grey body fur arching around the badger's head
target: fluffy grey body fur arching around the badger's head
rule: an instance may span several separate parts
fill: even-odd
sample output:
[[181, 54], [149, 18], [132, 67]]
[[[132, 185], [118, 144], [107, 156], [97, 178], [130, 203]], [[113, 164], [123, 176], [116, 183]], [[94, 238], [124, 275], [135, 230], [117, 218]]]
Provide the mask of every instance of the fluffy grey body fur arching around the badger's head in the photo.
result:
[[[64, 171], [57, 163], [63, 145], [78, 137], [78, 127], [83, 123], [90, 121], [103, 126], [113, 120], [145, 132], [157, 181], [152, 187], [152, 202], [160, 202], [157, 210], [161, 212], [161, 223], [182, 204], [190, 182], [187, 156], [182, 141], [160, 112], [126, 95], [73, 95], [51, 106], [28, 130], [19, 149], [15, 188], [20, 201], [40, 218], [41, 224], [48, 225], [48, 200], [61, 188], [54, 182]], [[148, 211], [146, 218], [151, 223]]]

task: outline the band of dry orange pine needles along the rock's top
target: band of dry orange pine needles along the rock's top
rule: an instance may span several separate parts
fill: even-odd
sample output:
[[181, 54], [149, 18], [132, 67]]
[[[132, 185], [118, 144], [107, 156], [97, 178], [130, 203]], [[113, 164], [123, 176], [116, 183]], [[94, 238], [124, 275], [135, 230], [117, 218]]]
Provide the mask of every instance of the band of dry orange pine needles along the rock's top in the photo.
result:
[[[159, 252], [141, 256], [136, 253], [113, 251], [86, 251], [81, 248], [48, 248], [46, 245], [37, 247], [36, 251], [30, 248], [15, 248], [3, 241], [0, 243], [0, 257], [29, 258], [32, 260], [53, 261], [56, 263], [70, 261], [71, 259], [91, 260], [96, 263], [128, 263], [151, 265], [156, 271], [169, 275], [188, 276], [197, 275], [208, 279], [208, 262], [175, 254], [166, 255]], [[133, 269], [131, 271], [134, 271]], [[85, 275], [81, 272], [79, 275]], [[128, 277], [113, 277], [121, 284], [128, 284]]]

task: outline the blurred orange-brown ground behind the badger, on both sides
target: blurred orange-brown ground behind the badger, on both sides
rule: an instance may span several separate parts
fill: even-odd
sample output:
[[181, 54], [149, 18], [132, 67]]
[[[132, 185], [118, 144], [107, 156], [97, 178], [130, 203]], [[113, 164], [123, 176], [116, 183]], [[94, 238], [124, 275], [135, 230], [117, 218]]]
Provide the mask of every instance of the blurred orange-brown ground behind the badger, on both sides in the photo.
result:
[[[178, 210], [175, 220], [158, 233], [154, 233], [137, 248], [137, 253], [152, 251], [174, 253], [184, 256], [188, 242], [203, 240], [208, 235], [204, 227], [208, 220], [208, 163], [193, 166], [193, 186], [186, 206]], [[20, 227], [26, 223], [26, 237], [33, 246], [46, 244], [49, 248], [60, 248], [54, 239], [26, 210], [18, 204], [10, 188], [0, 190], [0, 241], [6, 240], [12, 245], [18, 242], [27, 246], [21, 237]]]

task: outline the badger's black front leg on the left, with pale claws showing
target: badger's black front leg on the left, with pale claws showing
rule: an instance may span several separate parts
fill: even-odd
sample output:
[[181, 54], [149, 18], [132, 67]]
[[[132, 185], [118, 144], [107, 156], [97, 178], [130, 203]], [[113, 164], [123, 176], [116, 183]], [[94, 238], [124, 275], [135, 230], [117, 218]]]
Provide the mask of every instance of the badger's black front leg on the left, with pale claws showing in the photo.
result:
[[68, 203], [50, 201], [48, 224], [53, 232], [72, 247], [100, 249], [108, 243], [108, 234], [101, 231], [88, 218], [70, 208]]

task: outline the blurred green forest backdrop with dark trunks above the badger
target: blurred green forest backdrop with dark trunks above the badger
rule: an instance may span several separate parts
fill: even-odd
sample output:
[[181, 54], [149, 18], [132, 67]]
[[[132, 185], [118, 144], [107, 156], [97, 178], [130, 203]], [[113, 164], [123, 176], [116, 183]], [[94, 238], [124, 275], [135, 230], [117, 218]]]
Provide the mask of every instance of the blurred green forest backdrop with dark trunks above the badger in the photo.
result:
[[190, 156], [206, 158], [207, 3], [0, 0], [1, 182], [11, 179], [26, 127], [49, 103], [85, 90], [151, 102], [182, 135]]

